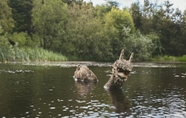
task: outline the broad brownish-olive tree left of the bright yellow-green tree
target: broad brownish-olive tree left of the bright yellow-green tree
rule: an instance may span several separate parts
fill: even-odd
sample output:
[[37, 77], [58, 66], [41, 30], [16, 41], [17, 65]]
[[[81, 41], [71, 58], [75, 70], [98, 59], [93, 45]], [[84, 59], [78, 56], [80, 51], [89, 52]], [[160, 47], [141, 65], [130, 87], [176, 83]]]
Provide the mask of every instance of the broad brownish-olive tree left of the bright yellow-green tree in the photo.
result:
[[102, 22], [92, 4], [73, 3], [68, 7], [66, 37], [62, 39], [63, 54], [82, 60], [109, 60], [109, 42], [102, 33]]

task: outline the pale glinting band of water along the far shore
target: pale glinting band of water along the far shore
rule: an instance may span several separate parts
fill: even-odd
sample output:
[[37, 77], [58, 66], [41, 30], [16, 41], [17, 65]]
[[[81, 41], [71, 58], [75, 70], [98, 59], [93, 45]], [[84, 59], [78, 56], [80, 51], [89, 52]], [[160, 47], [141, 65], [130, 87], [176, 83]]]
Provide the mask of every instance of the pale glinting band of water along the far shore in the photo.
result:
[[[30, 62], [7, 62], [0, 64], [21, 64], [25, 66], [58, 66], [63, 68], [77, 67], [78, 65], [86, 65], [89, 67], [112, 67], [114, 62], [96, 62], [96, 61], [30, 61]], [[133, 62], [133, 67], [147, 67], [147, 68], [167, 68], [167, 67], [181, 67], [186, 66], [186, 62]]]

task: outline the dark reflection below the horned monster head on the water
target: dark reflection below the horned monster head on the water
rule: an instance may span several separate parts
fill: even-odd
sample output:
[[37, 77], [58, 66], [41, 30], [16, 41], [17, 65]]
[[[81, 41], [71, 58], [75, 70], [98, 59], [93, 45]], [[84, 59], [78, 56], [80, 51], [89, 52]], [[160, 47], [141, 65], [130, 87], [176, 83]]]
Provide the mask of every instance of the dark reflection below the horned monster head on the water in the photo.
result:
[[131, 114], [130, 101], [124, 96], [121, 89], [109, 89], [106, 91], [110, 95], [111, 102], [115, 106], [116, 113], [123, 113], [122, 117]]

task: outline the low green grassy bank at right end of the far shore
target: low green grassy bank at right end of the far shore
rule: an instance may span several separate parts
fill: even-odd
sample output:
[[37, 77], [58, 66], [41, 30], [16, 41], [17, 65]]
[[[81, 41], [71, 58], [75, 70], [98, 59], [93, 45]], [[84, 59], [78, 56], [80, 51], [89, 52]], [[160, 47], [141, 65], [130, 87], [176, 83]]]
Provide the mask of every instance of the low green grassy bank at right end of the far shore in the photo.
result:
[[186, 55], [175, 57], [175, 56], [156, 56], [151, 59], [152, 61], [162, 61], [162, 62], [186, 62]]

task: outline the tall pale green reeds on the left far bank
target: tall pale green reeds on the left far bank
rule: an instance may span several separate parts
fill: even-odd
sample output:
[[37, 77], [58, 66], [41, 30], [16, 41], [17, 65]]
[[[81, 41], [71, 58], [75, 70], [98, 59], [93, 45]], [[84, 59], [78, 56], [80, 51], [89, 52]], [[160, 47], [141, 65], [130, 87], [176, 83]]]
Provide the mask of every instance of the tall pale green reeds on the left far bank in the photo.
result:
[[0, 61], [65, 61], [67, 57], [43, 48], [0, 47]]

